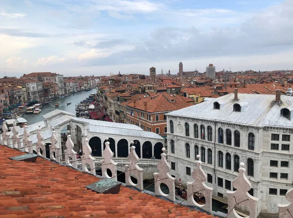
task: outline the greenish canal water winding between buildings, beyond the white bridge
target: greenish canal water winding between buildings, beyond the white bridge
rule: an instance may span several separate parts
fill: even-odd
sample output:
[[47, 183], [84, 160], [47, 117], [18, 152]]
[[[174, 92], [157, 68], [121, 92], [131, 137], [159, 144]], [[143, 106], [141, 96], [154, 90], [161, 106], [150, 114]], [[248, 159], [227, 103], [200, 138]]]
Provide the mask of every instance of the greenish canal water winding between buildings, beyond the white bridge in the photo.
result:
[[[47, 105], [42, 106], [42, 112], [39, 114], [33, 114], [33, 113], [25, 113], [22, 115], [24, 119], [27, 120], [28, 125], [34, 124], [37, 122], [40, 122], [44, 120], [42, 115], [49, 113], [55, 109], [60, 109], [60, 110], [65, 110], [70, 113], [76, 113], [75, 111], [75, 105], [79, 104], [81, 101], [85, 100], [88, 98], [89, 94], [91, 93], [97, 93], [97, 90], [94, 88], [90, 91], [78, 91], [76, 93], [70, 94], [70, 96], [66, 96], [64, 98], [59, 98]], [[71, 105], [67, 106], [67, 103], [70, 103]], [[55, 108], [55, 104], [59, 103], [59, 108]]]

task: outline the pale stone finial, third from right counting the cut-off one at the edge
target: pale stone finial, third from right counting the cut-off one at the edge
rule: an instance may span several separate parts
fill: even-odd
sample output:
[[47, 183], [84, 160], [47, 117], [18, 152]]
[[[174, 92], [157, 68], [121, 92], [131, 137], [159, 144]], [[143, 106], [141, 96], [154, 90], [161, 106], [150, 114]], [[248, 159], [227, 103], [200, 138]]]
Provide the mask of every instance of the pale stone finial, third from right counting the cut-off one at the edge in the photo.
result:
[[[194, 179], [194, 181], [187, 183], [187, 202], [190, 206], [197, 206], [199, 208], [204, 209], [205, 211], [211, 212], [211, 199], [213, 189], [205, 184], [205, 181], [207, 180], [207, 174], [202, 169], [200, 155], [197, 155], [196, 159], [198, 159], [195, 163], [196, 168], [191, 173], [191, 177]], [[194, 200], [194, 195], [198, 198], [204, 196], [206, 199], [206, 203], [204, 205], [198, 204]]]

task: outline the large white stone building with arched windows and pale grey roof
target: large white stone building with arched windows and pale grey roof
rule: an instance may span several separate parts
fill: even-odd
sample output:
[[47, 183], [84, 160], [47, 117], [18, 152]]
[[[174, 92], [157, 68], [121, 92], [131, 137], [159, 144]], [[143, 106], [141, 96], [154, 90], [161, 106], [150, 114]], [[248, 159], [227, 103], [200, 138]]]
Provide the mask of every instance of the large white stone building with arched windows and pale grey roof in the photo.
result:
[[[287, 91], [288, 94], [292, 89]], [[244, 162], [258, 197], [257, 213], [278, 213], [279, 203], [293, 187], [293, 97], [225, 95], [167, 114], [168, 161], [176, 182], [186, 186], [201, 155], [213, 197], [227, 202], [228, 190]]]

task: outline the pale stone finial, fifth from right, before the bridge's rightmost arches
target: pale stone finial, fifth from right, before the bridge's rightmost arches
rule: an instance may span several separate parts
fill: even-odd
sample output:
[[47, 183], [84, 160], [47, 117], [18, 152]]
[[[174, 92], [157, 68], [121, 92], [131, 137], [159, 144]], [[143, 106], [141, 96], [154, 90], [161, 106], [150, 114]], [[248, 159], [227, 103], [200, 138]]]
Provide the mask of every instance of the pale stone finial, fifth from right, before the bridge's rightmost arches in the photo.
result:
[[[131, 142], [131, 145], [134, 143]], [[132, 185], [140, 190], [144, 189], [144, 183], [143, 183], [143, 171], [144, 169], [140, 168], [137, 163], [139, 162], [139, 157], [135, 152], [135, 147], [131, 146], [130, 147], [130, 153], [128, 154], [127, 160], [129, 161], [129, 164], [126, 165], [128, 169], [125, 172], [125, 181], [126, 185]], [[131, 181], [131, 175], [135, 175], [137, 179], [137, 183], [135, 184], [134, 182]]]

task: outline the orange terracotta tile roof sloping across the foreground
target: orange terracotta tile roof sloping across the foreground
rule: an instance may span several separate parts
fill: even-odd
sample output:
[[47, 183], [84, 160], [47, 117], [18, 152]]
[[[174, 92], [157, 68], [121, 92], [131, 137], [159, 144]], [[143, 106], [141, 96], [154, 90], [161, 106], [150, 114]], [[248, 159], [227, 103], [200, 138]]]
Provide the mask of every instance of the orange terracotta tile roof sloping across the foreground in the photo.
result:
[[95, 176], [79, 176], [83, 173], [40, 157], [36, 163], [10, 160], [23, 153], [4, 146], [0, 151], [0, 218], [212, 218], [185, 206], [169, 213], [174, 203], [143, 193], [130, 200], [138, 192], [124, 186], [116, 195], [97, 194], [84, 188], [99, 180]]

